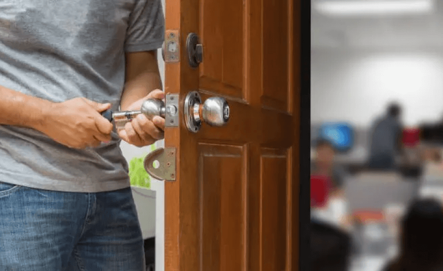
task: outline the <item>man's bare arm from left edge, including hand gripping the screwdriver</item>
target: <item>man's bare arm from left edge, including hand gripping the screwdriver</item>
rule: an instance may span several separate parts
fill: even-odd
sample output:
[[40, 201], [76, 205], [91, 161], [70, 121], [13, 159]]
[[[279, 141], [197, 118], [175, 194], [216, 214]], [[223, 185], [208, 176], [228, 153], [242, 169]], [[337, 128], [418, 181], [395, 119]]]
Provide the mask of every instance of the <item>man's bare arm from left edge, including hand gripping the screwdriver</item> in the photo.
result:
[[0, 86], [0, 124], [31, 128], [72, 148], [111, 139], [112, 124], [99, 113], [110, 106], [84, 98], [53, 103]]

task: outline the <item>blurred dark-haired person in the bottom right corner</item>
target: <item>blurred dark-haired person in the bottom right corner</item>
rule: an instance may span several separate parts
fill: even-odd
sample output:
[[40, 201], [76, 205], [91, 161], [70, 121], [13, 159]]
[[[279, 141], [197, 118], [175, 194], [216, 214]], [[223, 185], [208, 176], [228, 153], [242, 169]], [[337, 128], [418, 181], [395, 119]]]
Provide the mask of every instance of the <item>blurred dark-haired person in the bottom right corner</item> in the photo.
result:
[[443, 270], [443, 209], [433, 199], [414, 201], [402, 221], [400, 255], [383, 271]]

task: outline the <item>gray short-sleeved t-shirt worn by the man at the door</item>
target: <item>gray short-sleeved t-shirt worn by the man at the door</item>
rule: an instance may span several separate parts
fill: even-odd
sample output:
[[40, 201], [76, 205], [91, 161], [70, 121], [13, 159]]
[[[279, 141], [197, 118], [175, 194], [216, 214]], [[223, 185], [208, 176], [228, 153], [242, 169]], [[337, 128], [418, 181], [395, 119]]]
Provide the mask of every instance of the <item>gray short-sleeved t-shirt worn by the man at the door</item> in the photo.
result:
[[[160, 48], [160, 0], [4, 0], [0, 85], [53, 102], [85, 97], [119, 107], [125, 52]], [[57, 129], [57, 127], [54, 127]], [[117, 134], [71, 149], [32, 129], [0, 126], [0, 182], [101, 192], [128, 187]]]

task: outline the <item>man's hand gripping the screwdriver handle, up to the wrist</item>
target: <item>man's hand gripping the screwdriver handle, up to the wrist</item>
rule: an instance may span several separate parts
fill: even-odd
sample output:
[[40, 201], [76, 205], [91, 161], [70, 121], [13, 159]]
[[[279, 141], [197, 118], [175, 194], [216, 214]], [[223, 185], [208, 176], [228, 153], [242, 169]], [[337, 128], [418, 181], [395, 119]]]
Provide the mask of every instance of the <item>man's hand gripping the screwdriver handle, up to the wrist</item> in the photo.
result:
[[111, 140], [113, 125], [100, 114], [110, 107], [85, 98], [53, 103], [38, 130], [71, 148], [96, 147]]

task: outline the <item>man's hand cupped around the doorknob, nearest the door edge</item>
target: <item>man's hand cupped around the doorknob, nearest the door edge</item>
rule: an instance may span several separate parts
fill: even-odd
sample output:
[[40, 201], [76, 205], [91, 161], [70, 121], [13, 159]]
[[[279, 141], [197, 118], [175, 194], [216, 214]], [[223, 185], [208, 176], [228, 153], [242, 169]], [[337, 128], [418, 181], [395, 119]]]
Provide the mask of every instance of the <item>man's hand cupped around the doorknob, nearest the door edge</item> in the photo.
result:
[[[162, 100], [164, 98], [164, 92], [161, 90], [153, 90], [148, 96], [134, 102], [128, 108], [122, 108], [122, 110], [140, 110], [144, 101], [149, 98], [155, 98]], [[126, 142], [138, 147], [148, 146], [155, 141], [164, 137], [164, 119], [160, 116], [155, 116], [152, 120], [140, 114], [137, 118], [125, 125], [125, 129], [118, 131], [120, 138]]]

